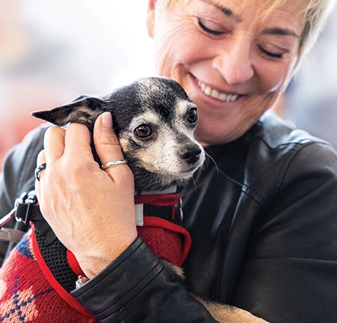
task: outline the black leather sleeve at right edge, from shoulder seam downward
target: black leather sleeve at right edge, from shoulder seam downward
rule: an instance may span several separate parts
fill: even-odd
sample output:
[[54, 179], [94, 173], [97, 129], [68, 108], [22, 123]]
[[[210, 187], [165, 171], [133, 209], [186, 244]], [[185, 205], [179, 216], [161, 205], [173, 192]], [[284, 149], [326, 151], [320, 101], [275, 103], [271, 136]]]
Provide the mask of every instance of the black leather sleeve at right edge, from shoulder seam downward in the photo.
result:
[[252, 228], [234, 304], [270, 322], [336, 322], [336, 152], [303, 145], [284, 169]]

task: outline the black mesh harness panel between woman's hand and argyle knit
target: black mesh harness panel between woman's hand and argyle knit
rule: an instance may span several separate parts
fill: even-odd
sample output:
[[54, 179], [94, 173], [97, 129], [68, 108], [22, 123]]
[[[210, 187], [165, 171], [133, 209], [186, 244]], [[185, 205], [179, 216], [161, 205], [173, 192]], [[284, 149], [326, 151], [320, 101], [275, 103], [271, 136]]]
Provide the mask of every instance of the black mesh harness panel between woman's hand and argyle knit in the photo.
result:
[[77, 275], [70, 268], [67, 261], [67, 249], [65, 246], [59, 239], [55, 239], [52, 244], [46, 244], [46, 239], [39, 231], [35, 230], [35, 233], [42, 257], [55, 279], [66, 291], [75, 289]]

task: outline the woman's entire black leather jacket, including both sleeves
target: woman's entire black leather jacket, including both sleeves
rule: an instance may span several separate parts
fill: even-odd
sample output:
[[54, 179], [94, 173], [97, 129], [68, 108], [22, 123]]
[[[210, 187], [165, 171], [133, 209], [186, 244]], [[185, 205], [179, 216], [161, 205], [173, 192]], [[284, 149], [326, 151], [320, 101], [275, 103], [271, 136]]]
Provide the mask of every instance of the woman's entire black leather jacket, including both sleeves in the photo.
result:
[[[4, 164], [0, 210], [32, 189], [44, 128]], [[212, 158], [184, 197], [186, 283], [270, 322], [337, 322], [337, 153], [267, 112]], [[101, 322], [213, 322], [138, 238], [72, 295]]]

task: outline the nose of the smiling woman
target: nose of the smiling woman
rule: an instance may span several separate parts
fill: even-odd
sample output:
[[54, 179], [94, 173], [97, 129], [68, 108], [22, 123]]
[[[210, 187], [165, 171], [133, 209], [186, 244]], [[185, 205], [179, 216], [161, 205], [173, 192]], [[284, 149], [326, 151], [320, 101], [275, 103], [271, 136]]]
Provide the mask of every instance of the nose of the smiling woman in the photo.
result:
[[254, 74], [251, 44], [243, 40], [227, 41], [213, 58], [213, 67], [232, 86], [249, 81]]

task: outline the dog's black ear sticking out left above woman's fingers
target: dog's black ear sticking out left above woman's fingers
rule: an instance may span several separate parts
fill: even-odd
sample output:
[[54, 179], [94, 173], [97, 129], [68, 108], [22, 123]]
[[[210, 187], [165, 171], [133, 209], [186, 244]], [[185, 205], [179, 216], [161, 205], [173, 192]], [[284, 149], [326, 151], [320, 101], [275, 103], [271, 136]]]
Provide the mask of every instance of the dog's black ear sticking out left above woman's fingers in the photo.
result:
[[104, 109], [104, 101], [100, 98], [80, 96], [65, 105], [54, 107], [51, 110], [34, 111], [31, 115], [35, 118], [51, 122], [55, 126], [65, 126], [70, 122], [79, 122], [90, 126], [95, 119], [107, 111]]

